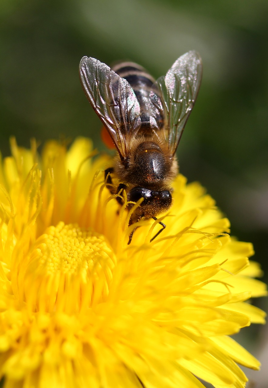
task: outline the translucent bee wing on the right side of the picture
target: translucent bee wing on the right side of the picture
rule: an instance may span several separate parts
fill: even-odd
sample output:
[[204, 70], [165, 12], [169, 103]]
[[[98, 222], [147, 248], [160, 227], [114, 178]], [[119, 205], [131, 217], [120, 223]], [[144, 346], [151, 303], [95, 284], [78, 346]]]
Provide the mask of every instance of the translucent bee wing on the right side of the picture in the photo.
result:
[[[168, 148], [174, 155], [183, 129], [194, 106], [202, 78], [202, 61], [199, 54], [189, 51], [176, 60], [166, 76], [160, 77], [154, 87], [160, 91], [167, 131]], [[157, 104], [161, 109], [160, 104]]]

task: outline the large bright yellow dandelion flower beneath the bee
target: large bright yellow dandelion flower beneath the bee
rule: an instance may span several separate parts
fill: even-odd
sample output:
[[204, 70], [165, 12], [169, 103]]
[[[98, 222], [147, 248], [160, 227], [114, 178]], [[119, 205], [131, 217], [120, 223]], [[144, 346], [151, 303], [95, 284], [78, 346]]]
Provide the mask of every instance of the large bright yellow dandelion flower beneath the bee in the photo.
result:
[[263, 323], [252, 245], [197, 183], [174, 183], [167, 228], [128, 213], [92, 144], [17, 147], [0, 167], [0, 371], [5, 387], [244, 387], [259, 362], [229, 337]]

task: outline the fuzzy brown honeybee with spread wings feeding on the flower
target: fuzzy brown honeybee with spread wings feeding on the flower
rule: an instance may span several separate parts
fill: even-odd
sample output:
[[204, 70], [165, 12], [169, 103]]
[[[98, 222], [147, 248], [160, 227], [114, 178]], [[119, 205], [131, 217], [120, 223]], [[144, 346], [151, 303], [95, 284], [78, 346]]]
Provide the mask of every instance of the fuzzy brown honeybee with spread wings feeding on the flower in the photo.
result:
[[[178, 173], [176, 149], [192, 111], [202, 78], [199, 54], [179, 57], [166, 76], [154, 80], [133, 62], [109, 68], [91, 57], [80, 62], [80, 79], [86, 97], [116, 147], [114, 165], [105, 170], [111, 194], [126, 191], [129, 225], [167, 211], [172, 203], [172, 182]], [[121, 182], [112, 184], [115, 174]], [[122, 196], [116, 197], [123, 204]], [[166, 225], [150, 240], [155, 239]], [[129, 235], [130, 244], [135, 227]]]

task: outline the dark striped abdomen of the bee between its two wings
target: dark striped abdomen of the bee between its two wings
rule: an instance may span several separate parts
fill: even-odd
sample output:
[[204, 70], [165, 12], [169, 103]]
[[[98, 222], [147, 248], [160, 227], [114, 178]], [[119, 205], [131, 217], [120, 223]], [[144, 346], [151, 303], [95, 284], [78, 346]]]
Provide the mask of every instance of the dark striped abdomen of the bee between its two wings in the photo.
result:
[[[112, 70], [128, 81], [137, 97], [140, 104], [141, 131], [151, 132], [153, 128], [162, 128], [163, 116], [149, 97], [154, 78], [142, 66], [133, 62], [120, 62]], [[157, 90], [154, 90], [154, 93], [159, 97]]]

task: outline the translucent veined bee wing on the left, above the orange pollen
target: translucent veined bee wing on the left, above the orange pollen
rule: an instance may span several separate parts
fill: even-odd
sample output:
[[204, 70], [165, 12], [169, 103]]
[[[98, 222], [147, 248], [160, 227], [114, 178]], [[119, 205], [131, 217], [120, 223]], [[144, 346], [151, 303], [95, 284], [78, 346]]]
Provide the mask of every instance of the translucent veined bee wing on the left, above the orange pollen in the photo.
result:
[[80, 61], [80, 80], [93, 109], [111, 136], [122, 161], [130, 137], [140, 128], [140, 105], [128, 81], [95, 58]]

